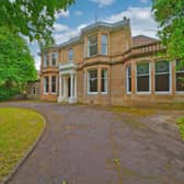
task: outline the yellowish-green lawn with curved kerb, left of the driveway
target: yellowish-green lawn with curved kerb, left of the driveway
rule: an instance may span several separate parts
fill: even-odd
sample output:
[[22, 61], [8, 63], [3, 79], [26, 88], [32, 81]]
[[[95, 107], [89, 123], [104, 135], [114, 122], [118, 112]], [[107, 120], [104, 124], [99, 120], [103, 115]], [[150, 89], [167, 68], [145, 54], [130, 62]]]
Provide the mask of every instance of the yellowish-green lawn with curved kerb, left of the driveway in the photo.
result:
[[24, 108], [0, 108], [0, 182], [38, 138], [44, 118]]

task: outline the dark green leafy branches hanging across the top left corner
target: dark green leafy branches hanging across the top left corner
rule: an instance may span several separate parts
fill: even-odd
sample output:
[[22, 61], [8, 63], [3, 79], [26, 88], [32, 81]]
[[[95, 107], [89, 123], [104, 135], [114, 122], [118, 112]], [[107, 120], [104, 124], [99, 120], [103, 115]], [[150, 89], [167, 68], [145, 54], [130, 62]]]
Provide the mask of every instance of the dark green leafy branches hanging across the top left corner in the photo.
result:
[[55, 13], [66, 10], [74, 0], [0, 0], [0, 26], [37, 39], [41, 45], [53, 42]]

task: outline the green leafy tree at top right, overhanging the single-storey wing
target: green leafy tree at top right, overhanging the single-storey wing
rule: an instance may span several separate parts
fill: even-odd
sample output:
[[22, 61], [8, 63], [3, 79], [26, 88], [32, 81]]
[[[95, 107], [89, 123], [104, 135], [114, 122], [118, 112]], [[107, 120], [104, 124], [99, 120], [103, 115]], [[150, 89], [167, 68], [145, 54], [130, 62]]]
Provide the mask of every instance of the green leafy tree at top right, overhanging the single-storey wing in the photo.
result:
[[180, 59], [184, 66], [184, 0], [152, 0], [152, 11], [168, 57]]

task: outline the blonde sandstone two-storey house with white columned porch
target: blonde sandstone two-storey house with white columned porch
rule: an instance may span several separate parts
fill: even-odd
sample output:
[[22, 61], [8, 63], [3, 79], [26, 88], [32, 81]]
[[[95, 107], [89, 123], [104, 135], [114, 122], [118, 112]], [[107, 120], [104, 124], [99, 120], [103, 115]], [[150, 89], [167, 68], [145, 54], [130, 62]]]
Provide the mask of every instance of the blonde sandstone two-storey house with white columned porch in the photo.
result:
[[41, 99], [113, 104], [184, 101], [184, 69], [147, 36], [131, 37], [129, 20], [96, 22], [42, 51]]

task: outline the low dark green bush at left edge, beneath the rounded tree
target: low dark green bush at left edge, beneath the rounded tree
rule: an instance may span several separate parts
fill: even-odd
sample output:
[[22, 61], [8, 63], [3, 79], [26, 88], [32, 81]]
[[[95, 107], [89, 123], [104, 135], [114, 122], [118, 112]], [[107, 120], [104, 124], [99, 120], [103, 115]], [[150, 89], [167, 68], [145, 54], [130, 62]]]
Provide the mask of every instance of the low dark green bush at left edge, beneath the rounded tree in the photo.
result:
[[8, 101], [19, 93], [18, 89], [9, 89], [7, 87], [0, 87], [0, 101]]

